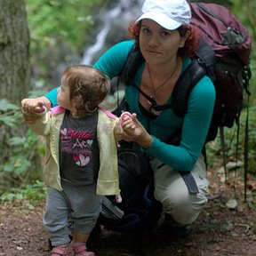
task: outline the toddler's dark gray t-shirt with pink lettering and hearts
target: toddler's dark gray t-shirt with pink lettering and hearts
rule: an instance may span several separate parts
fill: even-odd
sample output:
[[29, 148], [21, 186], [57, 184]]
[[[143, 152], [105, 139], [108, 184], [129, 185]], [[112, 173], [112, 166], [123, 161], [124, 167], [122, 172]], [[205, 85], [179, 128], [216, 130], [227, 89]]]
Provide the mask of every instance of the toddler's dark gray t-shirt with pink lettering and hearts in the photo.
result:
[[77, 185], [96, 183], [100, 168], [98, 112], [81, 118], [67, 110], [60, 126], [60, 177]]

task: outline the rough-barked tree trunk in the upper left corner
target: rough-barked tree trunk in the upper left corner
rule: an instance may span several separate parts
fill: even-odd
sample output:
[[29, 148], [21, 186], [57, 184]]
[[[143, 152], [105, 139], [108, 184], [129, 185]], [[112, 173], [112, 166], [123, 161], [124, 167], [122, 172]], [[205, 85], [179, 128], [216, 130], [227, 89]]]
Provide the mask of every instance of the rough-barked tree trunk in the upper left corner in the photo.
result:
[[18, 103], [30, 88], [29, 33], [23, 0], [0, 0], [0, 98]]

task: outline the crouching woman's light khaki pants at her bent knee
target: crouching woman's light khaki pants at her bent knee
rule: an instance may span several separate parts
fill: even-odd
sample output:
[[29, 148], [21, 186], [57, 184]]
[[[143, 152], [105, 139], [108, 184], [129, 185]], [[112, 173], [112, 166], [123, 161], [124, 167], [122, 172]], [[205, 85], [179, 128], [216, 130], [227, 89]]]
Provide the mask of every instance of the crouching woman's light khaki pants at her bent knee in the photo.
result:
[[172, 215], [172, 219], [180, 224], [195, 221], [207, 203], [209, 181], [206, 179], [203, 156], [199, 157], [191, 172], [198, 188], [197, 194], [188, 192], [180, 172], [156, 158], [150, 164], [155, 173], [155, 197], [163, 205], [164, 212]]

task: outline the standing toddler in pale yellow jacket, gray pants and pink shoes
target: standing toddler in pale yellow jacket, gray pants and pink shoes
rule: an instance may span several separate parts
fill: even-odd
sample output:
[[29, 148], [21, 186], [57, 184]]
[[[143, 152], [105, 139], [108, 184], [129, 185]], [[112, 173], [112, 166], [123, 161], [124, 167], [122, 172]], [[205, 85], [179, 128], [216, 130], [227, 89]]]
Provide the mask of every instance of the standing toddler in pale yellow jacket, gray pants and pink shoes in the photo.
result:
[[98, 69], [71, 66], [60, 84], [59, 106], [46, 111], [44, 102], [36, 101], [22, 108], [26, 115], [40, 115], [29, 126], [46, 138], [44, 227], [53, 246], [52, 256], [93, 256], [86, 242], [100, 214], [102, 195], [117, 195], [120, 201], [115, 132], [119, 123], [116, 116], [99, 107], [110, 82]]

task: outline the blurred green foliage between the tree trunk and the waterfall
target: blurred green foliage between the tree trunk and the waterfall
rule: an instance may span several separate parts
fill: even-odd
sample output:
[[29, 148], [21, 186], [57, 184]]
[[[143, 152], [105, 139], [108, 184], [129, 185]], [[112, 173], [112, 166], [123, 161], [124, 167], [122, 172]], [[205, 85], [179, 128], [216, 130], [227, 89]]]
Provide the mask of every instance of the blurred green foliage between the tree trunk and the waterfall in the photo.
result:
[[35, 78], [32, 85], [52, 88], [59, 83], [63, 66], [80, 61], [100, 8], [109, 0], [25, 0], [25, 3], [30, 63]]

